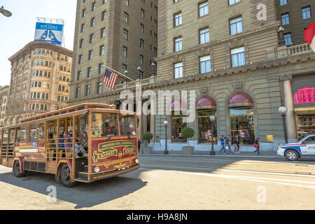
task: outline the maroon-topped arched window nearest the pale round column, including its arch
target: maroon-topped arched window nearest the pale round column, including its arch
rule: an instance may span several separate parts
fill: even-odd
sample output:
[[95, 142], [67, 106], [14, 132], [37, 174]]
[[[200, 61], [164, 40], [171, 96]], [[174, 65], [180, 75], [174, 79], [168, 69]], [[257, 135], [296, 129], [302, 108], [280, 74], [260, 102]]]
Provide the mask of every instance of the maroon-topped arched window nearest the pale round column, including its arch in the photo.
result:
[[241, 144], [253, 144], [255, 141], [255, 122], [253, 99], [244, 92], [237, 92], [228, 101], [230, 110], [231, 139], [239, 135]]

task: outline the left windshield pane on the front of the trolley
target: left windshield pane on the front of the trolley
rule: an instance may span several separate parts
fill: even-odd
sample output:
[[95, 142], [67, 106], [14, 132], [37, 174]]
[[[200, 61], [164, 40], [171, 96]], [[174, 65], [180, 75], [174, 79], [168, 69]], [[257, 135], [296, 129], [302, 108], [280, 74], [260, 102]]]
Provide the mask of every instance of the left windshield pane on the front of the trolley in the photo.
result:
[[92, 137], [118, 136], [116, 113], [92, 113]]

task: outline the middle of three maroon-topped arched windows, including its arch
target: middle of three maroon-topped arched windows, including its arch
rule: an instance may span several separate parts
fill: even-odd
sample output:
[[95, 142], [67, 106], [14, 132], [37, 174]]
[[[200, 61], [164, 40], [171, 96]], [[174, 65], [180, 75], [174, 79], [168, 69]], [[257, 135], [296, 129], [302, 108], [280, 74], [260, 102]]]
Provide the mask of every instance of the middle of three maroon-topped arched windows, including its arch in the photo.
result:
[[211, 97], [202, 97], [197, 100], [197, 130], [198, 143], [207, 144], [217, 141], [217, 122], [214, 122], [214, 130], [212, 130], [210, 116], [216, 117], [216, 101]]

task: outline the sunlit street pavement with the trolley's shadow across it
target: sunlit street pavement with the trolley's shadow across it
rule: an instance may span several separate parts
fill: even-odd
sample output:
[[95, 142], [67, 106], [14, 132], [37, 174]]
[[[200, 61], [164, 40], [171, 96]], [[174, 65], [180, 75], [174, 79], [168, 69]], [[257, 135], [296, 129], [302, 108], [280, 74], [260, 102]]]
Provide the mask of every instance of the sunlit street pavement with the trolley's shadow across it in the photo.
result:
[[0, 166], [0, 209], [315, 209], [315, 159], [264, 154], [140, 155], [137, 171], [74, 188]]

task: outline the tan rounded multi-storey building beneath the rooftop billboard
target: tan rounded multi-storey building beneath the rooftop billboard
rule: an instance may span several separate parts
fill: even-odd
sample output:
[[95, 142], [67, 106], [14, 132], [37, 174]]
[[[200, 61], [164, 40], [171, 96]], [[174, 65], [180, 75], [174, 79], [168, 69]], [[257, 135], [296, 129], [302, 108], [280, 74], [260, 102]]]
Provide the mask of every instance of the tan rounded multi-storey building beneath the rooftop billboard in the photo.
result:
[[9, 58], [12, 64], [5, 125], [62, 109], [69, 99], [72, 51], [32, 41]]

